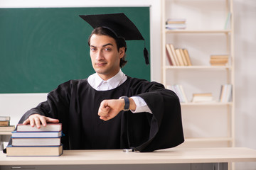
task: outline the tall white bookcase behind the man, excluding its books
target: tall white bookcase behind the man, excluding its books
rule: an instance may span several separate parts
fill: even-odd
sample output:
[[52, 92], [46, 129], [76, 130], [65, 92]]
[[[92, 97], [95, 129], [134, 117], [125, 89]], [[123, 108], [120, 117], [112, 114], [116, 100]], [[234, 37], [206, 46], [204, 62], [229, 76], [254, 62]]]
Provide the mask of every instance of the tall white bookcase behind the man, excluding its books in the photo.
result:
[[[161, 3], [162, 83], [165, 86], [182, 85], [188, 97], [188, 102], [181, 103], [185, 134], [185, 143], [181, 147], [234, 147], [233, 0], [162, 0]], [[231, 17], [225, 28], [228, 13]], [[166, 29], [167, 18], [185, 18], [186, 28]], [[166, 44], [186, 48], [192, 65], [170, 65]], [[210, 65], [210, 55], [223, 54], [229, 55], [227, 65]], [[232, 84], [232, 101], [219, 101], [222, 84]], [[192, 94], [206, 92], [213, 94], [214, 101], [191, 102]]]

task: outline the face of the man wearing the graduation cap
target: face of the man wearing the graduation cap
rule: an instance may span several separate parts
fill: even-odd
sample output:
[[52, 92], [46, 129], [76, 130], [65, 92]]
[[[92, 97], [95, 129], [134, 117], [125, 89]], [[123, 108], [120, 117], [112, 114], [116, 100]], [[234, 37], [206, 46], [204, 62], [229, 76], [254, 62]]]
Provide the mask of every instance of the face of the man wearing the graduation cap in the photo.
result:
[[90, 38], [90, 57], [95, 72], [104, 79], [110, 79], [119, 72], [119, 62], [124, 57], [124, 47], [117, 49], [114, 38], [93, 34]]

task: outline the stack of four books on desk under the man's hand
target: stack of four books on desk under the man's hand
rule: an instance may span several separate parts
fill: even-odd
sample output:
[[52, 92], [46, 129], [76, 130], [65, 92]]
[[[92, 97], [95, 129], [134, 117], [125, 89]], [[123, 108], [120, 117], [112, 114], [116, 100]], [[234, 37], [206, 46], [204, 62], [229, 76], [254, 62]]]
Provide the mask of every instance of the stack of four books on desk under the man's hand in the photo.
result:
[[11, 145], [6, 147], [7, 156], [60, 156], [61, 123], [48, 124], [41, 128], [18, 124], [12, 132]]

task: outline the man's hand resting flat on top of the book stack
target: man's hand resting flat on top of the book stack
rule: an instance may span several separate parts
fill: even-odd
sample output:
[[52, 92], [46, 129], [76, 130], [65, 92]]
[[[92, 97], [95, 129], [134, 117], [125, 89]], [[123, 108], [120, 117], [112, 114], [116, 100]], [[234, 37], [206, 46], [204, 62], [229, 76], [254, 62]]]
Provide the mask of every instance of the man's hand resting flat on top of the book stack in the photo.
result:
[[31, 127], [34, 127], [36, 125], [36, 128], [41, 128], [41, 125], [46, 126], [47, 123], [59, 123], [58, 119], [54, 118], [48, 118], [44, 115], [39, 114], [33, 114], [30, 115], [24, 122], [23, 125], [30, 124]]

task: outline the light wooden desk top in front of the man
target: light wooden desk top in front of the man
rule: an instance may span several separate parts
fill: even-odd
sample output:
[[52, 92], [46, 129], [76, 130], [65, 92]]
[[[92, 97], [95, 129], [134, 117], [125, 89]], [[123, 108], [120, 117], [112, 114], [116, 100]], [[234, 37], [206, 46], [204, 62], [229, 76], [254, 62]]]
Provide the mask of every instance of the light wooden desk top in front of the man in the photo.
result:
[[0, 165], [58, 164], [175, 164], [214, 162], [256, 162], [256, 150], [243, 147], [171, 148], [156, 152], [122, 152], [122, 150], [65, 150], [60, 157], [6, 157]]

